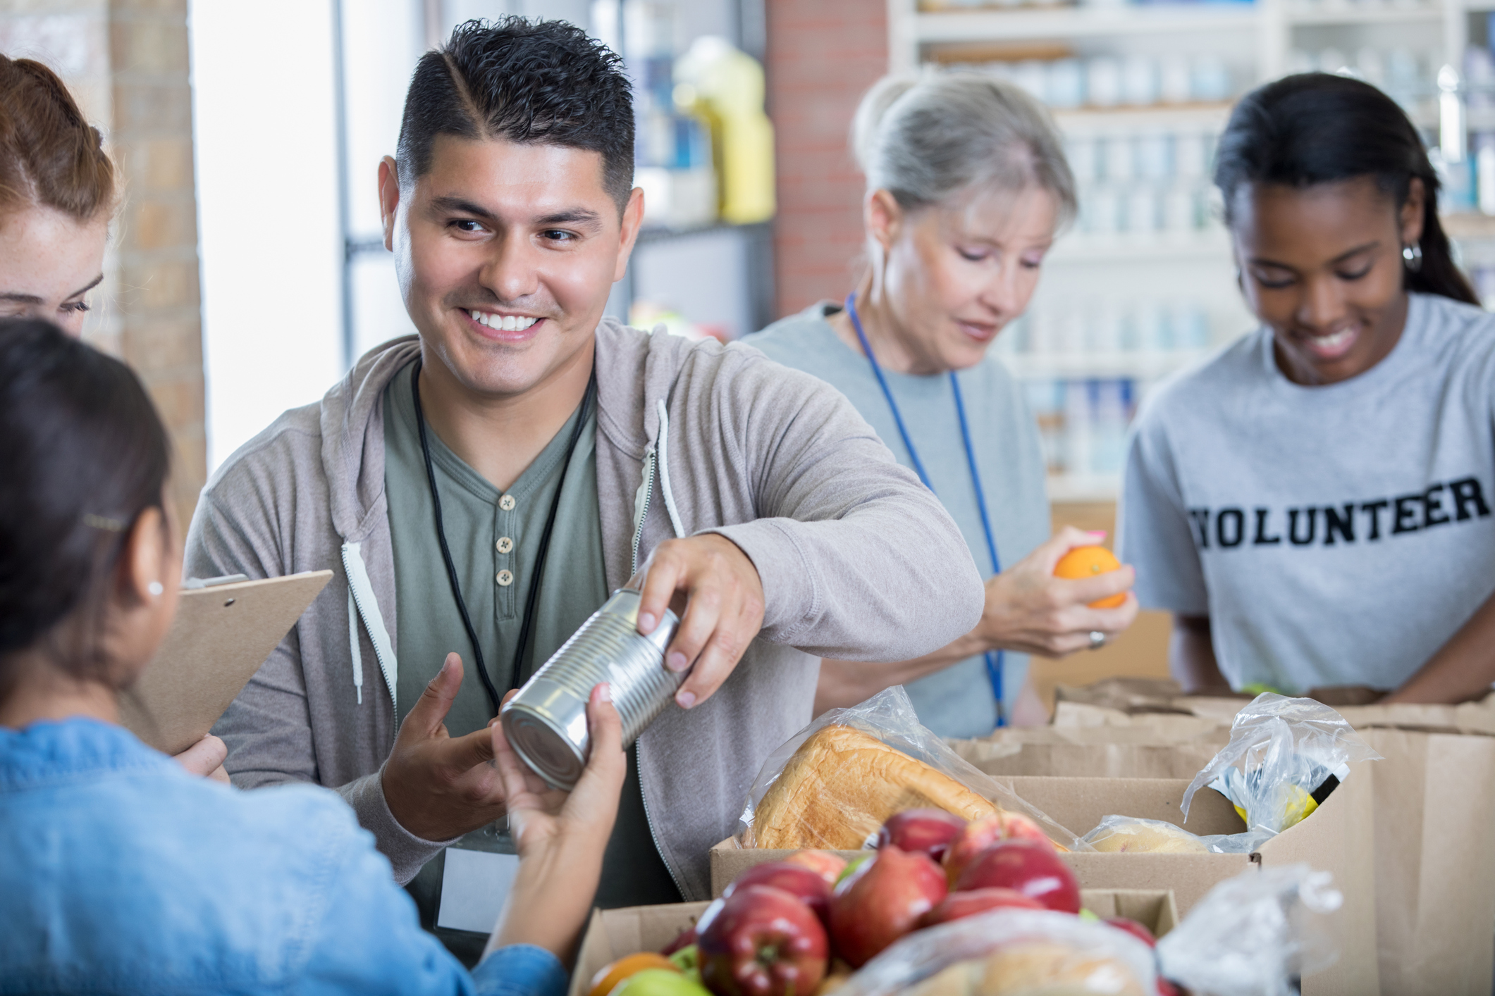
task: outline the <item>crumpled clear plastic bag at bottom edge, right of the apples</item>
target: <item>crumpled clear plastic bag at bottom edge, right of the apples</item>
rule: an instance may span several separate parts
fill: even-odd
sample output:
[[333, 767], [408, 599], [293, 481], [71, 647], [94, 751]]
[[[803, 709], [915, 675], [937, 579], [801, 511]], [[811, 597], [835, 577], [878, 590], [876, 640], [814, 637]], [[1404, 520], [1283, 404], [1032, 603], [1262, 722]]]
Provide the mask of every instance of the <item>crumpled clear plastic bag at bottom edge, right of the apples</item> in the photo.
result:
[[1334, 965], [1323, 918], [1344, 903], [1329, 872], [1262, 868], [1226, 880], [1157, 942], [1165, 978], [1193, 996], [1296, 996], [1296, 981]]

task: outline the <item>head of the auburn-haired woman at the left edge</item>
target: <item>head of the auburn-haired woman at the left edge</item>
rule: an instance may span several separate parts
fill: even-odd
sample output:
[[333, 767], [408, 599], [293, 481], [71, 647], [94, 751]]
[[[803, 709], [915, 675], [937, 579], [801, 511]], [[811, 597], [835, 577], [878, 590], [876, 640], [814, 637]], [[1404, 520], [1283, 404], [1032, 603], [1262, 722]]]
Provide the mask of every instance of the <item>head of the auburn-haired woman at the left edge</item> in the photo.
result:
[[0, 318], [45, 318], [82, 334], [117, 203], [103, 136], [63, 81], [0, 55]]

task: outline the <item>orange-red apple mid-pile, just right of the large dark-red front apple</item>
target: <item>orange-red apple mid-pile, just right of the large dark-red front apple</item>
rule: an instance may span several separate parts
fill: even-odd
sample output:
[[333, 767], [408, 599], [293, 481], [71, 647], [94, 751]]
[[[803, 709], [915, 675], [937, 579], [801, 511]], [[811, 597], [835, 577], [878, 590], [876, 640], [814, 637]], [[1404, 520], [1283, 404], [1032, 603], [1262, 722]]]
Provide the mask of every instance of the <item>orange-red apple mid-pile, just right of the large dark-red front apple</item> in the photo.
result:
[[875, 851], [831, 896], [836, 953], [852, 968], [861, 968], [913, 930], [946, 890], [945, 875], [927, 854], [909, 854], [893, 845]]

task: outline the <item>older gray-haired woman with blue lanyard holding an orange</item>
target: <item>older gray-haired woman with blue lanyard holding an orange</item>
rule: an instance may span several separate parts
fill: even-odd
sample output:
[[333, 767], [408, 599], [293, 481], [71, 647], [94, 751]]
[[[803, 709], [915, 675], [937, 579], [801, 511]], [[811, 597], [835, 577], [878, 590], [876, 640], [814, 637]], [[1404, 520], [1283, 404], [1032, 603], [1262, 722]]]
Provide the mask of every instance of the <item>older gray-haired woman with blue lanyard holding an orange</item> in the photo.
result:
[[[943, 736], [1042, 721], [1027, 656], [1099, 647], [1138, 608], [1130, 567], [1052, 576], [1064, 553], [1097, 536], [1070, 527], [1049, 538], [1038, 426], [990, 355], [1075, 214], [1075, 181], [1048, 112], [972, 72], [882, 79], [857, 109], [852, 145], [867, 176], [866, 272], [845, 303], [813, 305], [748, 343], [846, 394], [940, 497], [990, 579], [981, 623], [942, 650], [884, 664], [824, 660], [816, 712], [904, 684]], [[1117, 608], [1088, 605], [1120, 593]]]

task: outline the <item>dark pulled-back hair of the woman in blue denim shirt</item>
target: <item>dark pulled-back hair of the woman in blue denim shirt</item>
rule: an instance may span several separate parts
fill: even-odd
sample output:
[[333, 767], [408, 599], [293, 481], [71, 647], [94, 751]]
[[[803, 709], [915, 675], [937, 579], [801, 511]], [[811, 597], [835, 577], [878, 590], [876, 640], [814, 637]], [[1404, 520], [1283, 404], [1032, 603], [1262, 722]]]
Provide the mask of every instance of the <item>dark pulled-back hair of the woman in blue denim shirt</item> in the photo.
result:
[[161, 506], [169, 452], [127, 366], [49, 323], [0, 321], [0, 696], [31, 647], [108, 676], [111, 579], [136, 518]]

